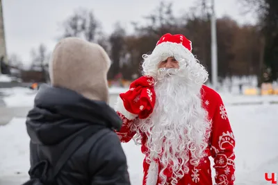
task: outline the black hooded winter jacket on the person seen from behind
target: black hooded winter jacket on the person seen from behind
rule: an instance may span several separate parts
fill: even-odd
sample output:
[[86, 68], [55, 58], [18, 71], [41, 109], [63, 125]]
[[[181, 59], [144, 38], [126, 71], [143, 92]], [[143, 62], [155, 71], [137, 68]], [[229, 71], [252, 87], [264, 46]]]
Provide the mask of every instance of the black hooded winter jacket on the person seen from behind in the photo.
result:
[[106, 103], [74, 91], [42, 85], [28, 112], [26, 127], [31, 168], [38, 159], [55, 165], [62, 152], [83, 129], [109, 129], [94, 146], [94, 134], [74, 152], [56, 178], [58, 185], [129, 185], [126, 156], [113, 130], [122, 121]]

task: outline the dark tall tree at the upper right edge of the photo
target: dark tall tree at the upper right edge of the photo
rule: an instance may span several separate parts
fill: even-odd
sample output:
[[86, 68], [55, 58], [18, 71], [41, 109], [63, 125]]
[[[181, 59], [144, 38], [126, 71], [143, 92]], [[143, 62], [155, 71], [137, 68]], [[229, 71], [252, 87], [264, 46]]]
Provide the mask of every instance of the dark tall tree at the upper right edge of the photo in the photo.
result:
[[[259, 86], [263, 68], [269, 69], [268, 76], [269, 80], [265, 81], [272, 82], [278, 80], [278, 1], [276, 0], [243, 0], [245, 4], [246, 11], [252, 12], [258, 19], [259, 27], [261, 28], [261, 62], [260, 71], [261, 74], [258, 74]], [[262, 56], [263, 55], [263, 56]]]

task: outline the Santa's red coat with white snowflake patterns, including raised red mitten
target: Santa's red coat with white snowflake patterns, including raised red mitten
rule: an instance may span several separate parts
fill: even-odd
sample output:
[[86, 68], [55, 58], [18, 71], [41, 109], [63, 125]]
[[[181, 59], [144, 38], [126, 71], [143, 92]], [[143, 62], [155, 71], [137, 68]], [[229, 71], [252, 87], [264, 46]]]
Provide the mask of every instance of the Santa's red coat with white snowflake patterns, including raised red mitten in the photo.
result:
[[[122, 142], [129, 142], [133, 136], [136, 134], [135, 132], [131, 132], [130, 125], [133, 121], [140, 115], [140, 113], [146, 117], [146, 114], [149, 115], [152, 113], [152, 108], [154, 107], [154, 99], [155, 93], [153, 84], [142, 85], [146, 80], [150, 78], [142, 77], [133, 82], [131, 84], [131, 89], [127, 91], [125, 94], [121, 94], [122, 100], [124, 103], [119, 101], [117, 103], [116, 111], [121, 116], [123, 125], [120, 132], [117, 132], [120, 140]], [[137, 89], [136, 89], [137, 88]], [[139, 90], [140, 89], [140, 90]], [[145, 94], [147, 92], [147, 94]], [[142, 100], [141, 104], [146, 107], [142, 109], [142, 106], [139, 103], [138, 109], [134, 108], [136, 106], [132, 105], [132, 101], [130, 101], [126, 97], [138, 97], [136, 94], [140, 94], [140, 97], [151, 97], [153, 100], [146, 103], [145, 100]], [[178, 185], [212, 185], [212, 178], [211, 178], [211, 164], [208, 157], [213, 157], [216, 175], [215, 175], [215, 182], [217, 184], [223, 185], [233, 185], [235, 176], [235, 165], [234, 165], [234, 147], [235, 147], [235, 139], [234, 134], [231, 130], [231, 125], [229, 123], [229, 119], [227, 117], [227, 112], [222, 102], [222, 98], [220, 95], [215, 92], [213, 89], [206, 87], [203, 85], [201, 89], [202, 93], [202, 103], [203, 107], [208, 111], [208, 118], [212, 122], [212, 129], [211, 129], [211, 136], [208, 141], [208, 147], [206, 149], [207, 157], [200, 162], [197, 168], [190, 169], [189, 173], [184, 175], [182, 179], [179, 180]], [[150, 96], [151, 95], [151, 96]], [[132, 99], [132, 98], [131, 98]], [[122, 105], [121, 105], [122, 103]], [[136, 101], [138, 103], [138, 101]], [[129, 106], [132, 106], [131, 109]], [[141, 111], [141, 112], [140, 112]], [[143, 153], [147, 151], [147, 147], [145, 146], [147, 136], [142, 133], [142, 147], [141, 150]], [[144, 179], [143, 184], [146, 182], [147, 171], [149, 169], [149, 164], [143, 161], [143, 169], [144, 169]], [[159, 170], [159, 168], [158, 168]], [[170, 171], [167, 174], [170, 175]], [[159, 183], [159, 182], [158, 182]], [[158, 184], [157, 183], [157, 184]]]

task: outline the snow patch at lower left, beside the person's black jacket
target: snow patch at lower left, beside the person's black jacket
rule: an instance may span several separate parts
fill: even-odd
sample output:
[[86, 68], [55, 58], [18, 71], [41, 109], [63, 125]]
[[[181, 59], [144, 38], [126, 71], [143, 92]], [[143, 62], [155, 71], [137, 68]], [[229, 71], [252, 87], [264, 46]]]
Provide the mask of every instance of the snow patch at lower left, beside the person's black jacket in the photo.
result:
[[2, 179], [26, 179], [28, 175], [29, 139], [24, 121], [24, 118], [14, 118], [0, 126], [0, 184]]

